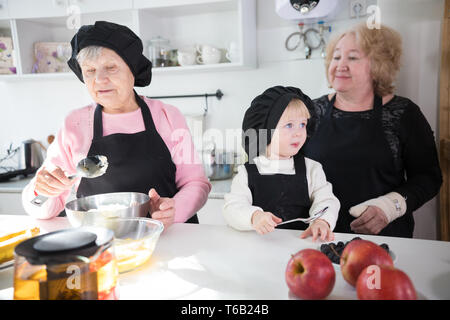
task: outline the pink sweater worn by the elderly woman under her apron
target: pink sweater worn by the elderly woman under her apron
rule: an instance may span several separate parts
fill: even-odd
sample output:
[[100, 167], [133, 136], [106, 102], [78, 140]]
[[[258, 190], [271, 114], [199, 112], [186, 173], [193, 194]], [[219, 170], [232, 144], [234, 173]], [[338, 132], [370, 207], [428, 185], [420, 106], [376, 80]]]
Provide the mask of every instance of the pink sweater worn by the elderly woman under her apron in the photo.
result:
[[[205, 176], [201, 160], [194, 148], [192, 137], [183, 115], [178, 109], [158, 100], [142, 97], [147, 103], [155, 123], [176, 165], [175, 222], [185, 222], [205, 204], [211, 184]], [[72, 111], [65, 119], [55, 141], [47, 150], [43, 167], [60, 167], [67, 175], [75, 174], [76, 164], [88, 154], [93, 136], [93, 119], [96, 104]], [[145, 130], [140, 109], [122, 114], [103, 113], [103, 135], [136, 133]], [[62, 210], [70, 190], [48, 199], [41, 207], [30, 201], [34, 198], [33, 178], [22, 192], [22, 203], [27, 213], [38, 219], [50, 219]], [[78, 188], [80, 179], [74, 188]], [[158, 191], [158, 190], [156, 190]]]

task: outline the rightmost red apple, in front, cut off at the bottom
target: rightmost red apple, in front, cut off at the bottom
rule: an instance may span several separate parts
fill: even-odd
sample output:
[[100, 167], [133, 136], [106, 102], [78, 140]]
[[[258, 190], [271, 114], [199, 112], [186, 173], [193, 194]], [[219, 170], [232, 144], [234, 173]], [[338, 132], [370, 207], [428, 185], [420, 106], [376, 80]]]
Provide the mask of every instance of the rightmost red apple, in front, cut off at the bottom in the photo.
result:
[[356, 293], [360, 300], [417, 300], [406, 273], [389, 266], [364, 268], [356, 282]]

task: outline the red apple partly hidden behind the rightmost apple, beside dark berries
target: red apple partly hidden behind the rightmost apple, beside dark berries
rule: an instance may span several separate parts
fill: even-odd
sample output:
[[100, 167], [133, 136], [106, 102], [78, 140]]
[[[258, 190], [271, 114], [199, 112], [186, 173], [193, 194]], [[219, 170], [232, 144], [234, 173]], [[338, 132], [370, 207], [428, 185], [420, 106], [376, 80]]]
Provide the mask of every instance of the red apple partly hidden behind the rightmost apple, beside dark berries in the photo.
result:
[[389, 253], [374, 242], [353, 240], [345, 246], [341, 255], [341, 271], [352, 286], [356, 285], [361, 271], [372, 264], [394, 266]]

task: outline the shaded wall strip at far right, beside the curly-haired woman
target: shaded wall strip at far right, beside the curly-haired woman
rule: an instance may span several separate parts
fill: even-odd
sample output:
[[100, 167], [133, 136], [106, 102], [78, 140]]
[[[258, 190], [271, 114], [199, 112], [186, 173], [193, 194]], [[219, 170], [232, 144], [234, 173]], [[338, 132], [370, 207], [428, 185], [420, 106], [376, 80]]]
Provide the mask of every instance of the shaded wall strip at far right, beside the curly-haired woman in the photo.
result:
[[[438, 137], [444, 1], [380, 0], [378, 4], [382, 11], [382, 21], [398, 30], [403, 37], [404, 58], [397, 80], [397, 94], [408, 97], [420, 106]], [[437, 198], [414, 213], [414, 237], [436, 239], [439, 229]]]

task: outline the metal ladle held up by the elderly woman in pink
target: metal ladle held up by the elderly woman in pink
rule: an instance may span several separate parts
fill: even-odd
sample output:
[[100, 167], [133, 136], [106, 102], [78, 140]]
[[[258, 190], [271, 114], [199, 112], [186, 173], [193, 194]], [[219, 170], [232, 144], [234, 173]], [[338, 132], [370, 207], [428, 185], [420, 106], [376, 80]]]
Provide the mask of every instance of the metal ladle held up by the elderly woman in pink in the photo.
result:
[[[103, 175], [106, 172], [106, 169], [108, 168], [108, 159], [105, 156], [89, 156], [86, 157], [77, 164], [77, 173], [68, 176], [67, 178], [72, 180], [77, 177], [81, 178], [97, 178]], [[42, 206], [42, 204], [47, 201], [48, 197], [38, 195], [33, 200], [31, 200], [31, 203], [35, 206]]]

